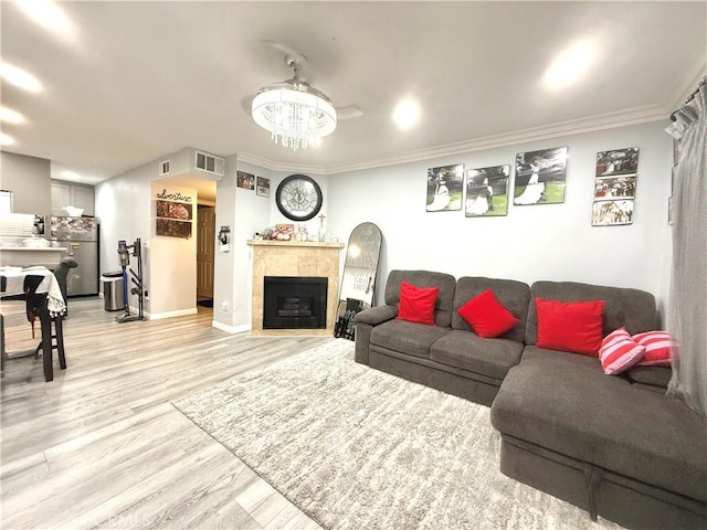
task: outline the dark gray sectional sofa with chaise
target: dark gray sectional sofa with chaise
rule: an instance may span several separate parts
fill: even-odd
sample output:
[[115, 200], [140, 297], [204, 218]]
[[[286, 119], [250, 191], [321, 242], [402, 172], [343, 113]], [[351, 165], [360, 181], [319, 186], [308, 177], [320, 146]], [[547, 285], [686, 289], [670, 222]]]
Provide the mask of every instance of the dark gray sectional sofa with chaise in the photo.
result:
[[[439, 286], [435, 326], [395, 319], [400, 285]], [[478, 337], [456, 310], [490, 288], [518, 324]], [[629, 528], [707, 528], [707, 422], [665, 395], [669, 369], [605, 375], [597, 358], [536, 346], [536, 297], [604, 300], [604, 336], [656, 329], [653, 295], [392, 271], [383, 306], [356, 317], [356, 361], [490, 405], [500, 469]]]

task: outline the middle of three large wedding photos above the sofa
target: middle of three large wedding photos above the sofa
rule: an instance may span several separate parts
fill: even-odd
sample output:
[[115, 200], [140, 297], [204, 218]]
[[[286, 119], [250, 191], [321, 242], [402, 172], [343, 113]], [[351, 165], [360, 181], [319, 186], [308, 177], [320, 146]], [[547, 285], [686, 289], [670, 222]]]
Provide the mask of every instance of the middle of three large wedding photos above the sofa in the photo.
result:
[[466, 172], [465, 215], [507, 215], [509, 178], [510, 165], [469, 169]]

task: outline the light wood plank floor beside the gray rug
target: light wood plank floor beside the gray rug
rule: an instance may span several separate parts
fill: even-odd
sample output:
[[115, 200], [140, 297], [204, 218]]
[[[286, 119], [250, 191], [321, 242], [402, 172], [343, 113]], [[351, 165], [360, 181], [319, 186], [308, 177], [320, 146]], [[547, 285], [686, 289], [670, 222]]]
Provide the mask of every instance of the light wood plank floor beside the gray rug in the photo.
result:
[[[6, 367], [3, 529], [319, 528], [170, 402], [333, 338], [229, 335], [201, 307], [126, 324], [99, 298], [68, 309], [67, 370]], [[8, 349], [34, 348], [23, 303], [1, 310]]]

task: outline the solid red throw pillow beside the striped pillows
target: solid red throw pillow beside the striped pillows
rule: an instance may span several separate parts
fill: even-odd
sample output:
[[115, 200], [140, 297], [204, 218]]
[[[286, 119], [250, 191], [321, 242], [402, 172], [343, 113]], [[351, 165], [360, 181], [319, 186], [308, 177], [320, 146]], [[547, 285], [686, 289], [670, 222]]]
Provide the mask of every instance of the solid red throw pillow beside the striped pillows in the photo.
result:
[[604, 300], [557, 301], [535, 299], [538, 311], [536, 346], [597, 357], [602, 340]]

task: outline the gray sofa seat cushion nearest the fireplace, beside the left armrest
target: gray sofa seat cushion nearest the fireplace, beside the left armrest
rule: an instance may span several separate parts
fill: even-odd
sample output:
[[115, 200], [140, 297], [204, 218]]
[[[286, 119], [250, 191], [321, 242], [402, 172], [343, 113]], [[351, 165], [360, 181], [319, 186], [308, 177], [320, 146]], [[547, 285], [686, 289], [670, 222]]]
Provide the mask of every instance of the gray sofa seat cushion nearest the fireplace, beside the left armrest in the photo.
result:
[[440, 326], [389, 320], [371, 329], [371, 344], [428, 359], [432, 343], [447, 331], [450, 328]]

